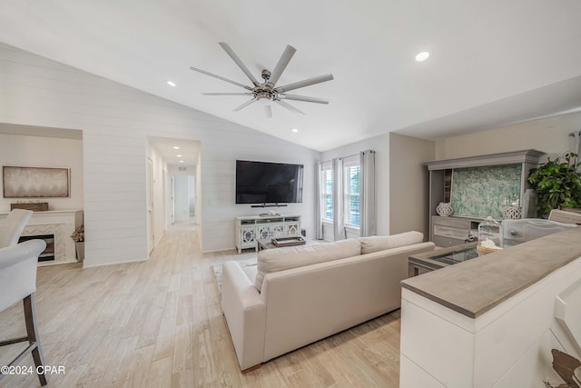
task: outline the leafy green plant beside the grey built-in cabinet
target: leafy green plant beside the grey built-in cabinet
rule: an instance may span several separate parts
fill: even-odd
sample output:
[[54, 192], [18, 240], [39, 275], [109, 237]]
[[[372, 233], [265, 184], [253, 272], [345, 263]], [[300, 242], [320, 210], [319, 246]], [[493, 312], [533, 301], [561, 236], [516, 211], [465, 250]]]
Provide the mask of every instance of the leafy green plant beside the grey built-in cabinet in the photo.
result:
[[578, 155], [566, 153], [534, 168], [528, 183], [537, 191], [537, 210], [547, 218], [553, 209], [581, 206], [581, 173], [577, 172]]

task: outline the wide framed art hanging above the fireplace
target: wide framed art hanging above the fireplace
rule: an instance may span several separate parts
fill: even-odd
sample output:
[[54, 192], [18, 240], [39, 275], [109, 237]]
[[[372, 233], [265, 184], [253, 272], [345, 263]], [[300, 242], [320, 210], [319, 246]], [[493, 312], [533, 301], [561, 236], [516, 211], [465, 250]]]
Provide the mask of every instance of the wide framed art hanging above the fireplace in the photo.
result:
[[2, 167], [5, 198], [55, 198], [71, 196], [70, 169]]

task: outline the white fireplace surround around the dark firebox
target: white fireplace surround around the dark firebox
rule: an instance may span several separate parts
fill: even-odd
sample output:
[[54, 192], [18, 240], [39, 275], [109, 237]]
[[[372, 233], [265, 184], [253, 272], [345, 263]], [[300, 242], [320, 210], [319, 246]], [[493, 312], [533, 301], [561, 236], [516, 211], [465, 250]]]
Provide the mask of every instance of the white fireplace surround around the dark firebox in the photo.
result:
[[[0, 224], [9, 212], [0, 212]], [[38, 265], [76, 263], [76, 251], [71, 234], [74, 228], [83, 224], [83, 210], [48, 210], [34, 212], [26, 223], [23, 236], [54, 234], [54, 261]]]

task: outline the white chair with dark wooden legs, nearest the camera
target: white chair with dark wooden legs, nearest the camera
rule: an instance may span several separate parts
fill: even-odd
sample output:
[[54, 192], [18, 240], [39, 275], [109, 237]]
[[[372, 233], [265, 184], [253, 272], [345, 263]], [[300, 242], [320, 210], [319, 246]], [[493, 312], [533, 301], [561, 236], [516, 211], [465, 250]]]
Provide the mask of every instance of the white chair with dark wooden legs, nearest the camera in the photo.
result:
[[[36, 325], [34, 292], [36, 291], [36, 264], [38, 255], [44, 251], [43, 240], [29, 240], [0, 248], [0, 313], [15, 303], [22, 301], [25, 307], [26, 336], [0, 341], [0, 346], [28, 341], [29, 345], [8, 366], [20, 363], [28, 353], [32, 353], [35, 372], [41, 385], [48, 383], [44, 373], [43, 352]], [[5, 374], [0, 373], [0, 380]]]

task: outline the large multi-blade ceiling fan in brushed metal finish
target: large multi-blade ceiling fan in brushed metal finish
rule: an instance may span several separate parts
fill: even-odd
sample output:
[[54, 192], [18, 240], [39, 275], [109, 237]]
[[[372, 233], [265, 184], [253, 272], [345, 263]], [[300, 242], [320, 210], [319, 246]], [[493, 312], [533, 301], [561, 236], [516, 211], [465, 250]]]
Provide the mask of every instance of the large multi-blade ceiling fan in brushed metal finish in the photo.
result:
[[[234, 108], [235, 112], [240, 111], [242, 108], [245, 108], [246, 106], [260, 100], [266, 102], [271, 101], [276, 104], [280, 104], [281, 106], [285, 107], [286, 109], [290, 110], [295, 114], [304, 114], [304, 113], [301, 112], [299, 109], [295, 108], [294, 106], [292, 106], [291, 104], [287, 103], [285, 100], [304, 101], [307, 103], [317, 103], [317, 104], [329, 104], [328, 100], [324, 100], [322, 98], [308, 97], [304, 95], [287, 95], [287, 92], [299, 89], [301, 87], [330, 81], [333, 79], [333, 75], [320, 75], [303, 81], [295, 82], [289, 85], [275, 87], [277, 81], [281, 77], [282, 72], [287, 67], [287, 65], [289, 65], [289, 62], [291, 62], [292, 55], [294, 55], [294, 53], [297, 51], [291, 45], [286, 46], [284, 52], [281, 55], [281, 58], [279, 59], [279, 62], [276, 64], [276, 66], [274, 66], [274, 70], [272, 70], [272, 72], [266, 69], [262, 70], [261, 77], [264, 80], [262, 83], [258, 82], [254, 75], [251, 74], [251, 71], [248, 69], [248, 67], [246, 67], [246, 65], [242, 63], [238, 55], [236, 55], [232, 51], [230, 45], [223, 42], [220, 43], [220, 45], [222, 46], [224, 51], [228, 55], [230, 55], [230, 57], [236, 63], [236, 65], [238, 65], [241, 68], [242, 72], [244, 72], [244, 74], [251, 80], [252, 86], [242, 85], [236, 81], [232, 81], [220, 75], [214, 75], [205, 70], [190, 66], [192, 70], [200, 72], [203, 75], [210, 75], [214, 78], [221, 79], [222, 81], [229, 82], [233, 85], [241, 86], [244, 89], [248, 90], [248, 92], [244, 93], [202, 93], [202, 95], [248, 95], [252, 97], [250, 101], [247, 101], [246, 103], [241, 104], [240, 106]], [[271, 105], [270, 104], [265, 105], [264, 108], [266, 111], [266, 116], [272, 117]]]

